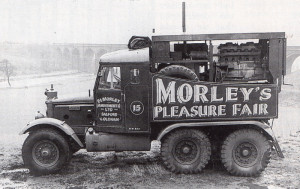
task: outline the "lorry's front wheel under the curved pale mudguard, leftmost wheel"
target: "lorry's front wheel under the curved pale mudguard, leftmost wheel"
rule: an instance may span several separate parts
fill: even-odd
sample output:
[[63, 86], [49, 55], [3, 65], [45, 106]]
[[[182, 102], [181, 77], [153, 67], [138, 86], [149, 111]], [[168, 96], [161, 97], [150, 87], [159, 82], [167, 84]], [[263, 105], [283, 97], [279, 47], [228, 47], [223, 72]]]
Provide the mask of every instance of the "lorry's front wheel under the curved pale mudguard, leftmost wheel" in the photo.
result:
[[59, 171], [70, 156], [66, 139], [52, 129], [30, 133], [22, 147], [22, 157], [31, 173], [51, 174]]

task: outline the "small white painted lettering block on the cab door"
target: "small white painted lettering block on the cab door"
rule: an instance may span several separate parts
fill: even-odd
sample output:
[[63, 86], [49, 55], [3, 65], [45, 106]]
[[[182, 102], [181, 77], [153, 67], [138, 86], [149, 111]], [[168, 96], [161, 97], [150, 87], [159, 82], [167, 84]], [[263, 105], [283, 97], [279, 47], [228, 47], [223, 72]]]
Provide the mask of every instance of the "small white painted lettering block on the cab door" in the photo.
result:
[[103, 96], [96, 100], [98, 119], [102, 123], [121, 122], [121, 100], [117, 97]]

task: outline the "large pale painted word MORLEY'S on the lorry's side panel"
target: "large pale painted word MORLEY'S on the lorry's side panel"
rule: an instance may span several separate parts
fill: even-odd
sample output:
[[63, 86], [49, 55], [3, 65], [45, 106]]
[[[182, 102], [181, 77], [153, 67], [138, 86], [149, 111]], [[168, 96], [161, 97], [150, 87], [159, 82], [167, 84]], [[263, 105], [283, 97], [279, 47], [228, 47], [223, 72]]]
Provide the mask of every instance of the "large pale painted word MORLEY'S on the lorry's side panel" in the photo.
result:
[[[156, 104], [175, 104], [186, 103], [193, 101], [195, 103], [209, 103], [209, 102], [237, 102], [238, 91], [243, 94], [243, 102], [250, 100], [250, 94], [254, 88], [239, 88], [239, 87], [226, 87], [225, 97], [218, 95], [218, 86], [212, 86], [210, 88], [210, 99], [207, 95], [209, 88], [205, 85], [190, 85], [188, 83], [178, 86], [176, 91], [176, 81], [170, 81], [167, 88], [165, 87], [162, 79], [156, 79]], [[260, 101], [266, 101], [271, 98], [271, 89], [264, 88], [260, 91]]]

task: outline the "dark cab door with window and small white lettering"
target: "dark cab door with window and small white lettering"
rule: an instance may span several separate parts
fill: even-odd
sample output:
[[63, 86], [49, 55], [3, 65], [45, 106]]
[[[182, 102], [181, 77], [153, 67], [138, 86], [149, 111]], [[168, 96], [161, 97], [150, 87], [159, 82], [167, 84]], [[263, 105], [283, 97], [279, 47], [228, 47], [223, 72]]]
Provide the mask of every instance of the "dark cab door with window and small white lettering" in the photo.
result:
[[95, 85], [96, 130], [125, 132], [120, 66], [102, 66]]

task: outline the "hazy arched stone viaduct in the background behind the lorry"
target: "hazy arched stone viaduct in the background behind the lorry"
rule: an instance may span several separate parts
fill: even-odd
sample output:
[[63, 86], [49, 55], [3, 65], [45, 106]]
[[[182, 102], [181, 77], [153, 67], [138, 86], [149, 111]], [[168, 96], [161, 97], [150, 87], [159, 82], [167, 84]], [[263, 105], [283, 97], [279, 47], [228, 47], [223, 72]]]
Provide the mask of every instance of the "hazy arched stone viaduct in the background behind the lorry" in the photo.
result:
[[[92, 72], [98, 68], [99, 58], [107, 53], [127, 48], [125, 44], [53, 44], [46, 67], [74, 69]], [[300, 56], [300, 46], [288, 46], [286, 53], [287, 74], [291, 73], [294, 61]], [[48, 57], [49, 58], [49, 57]], [[48, 59], [49, 60], [49, 59]]]

